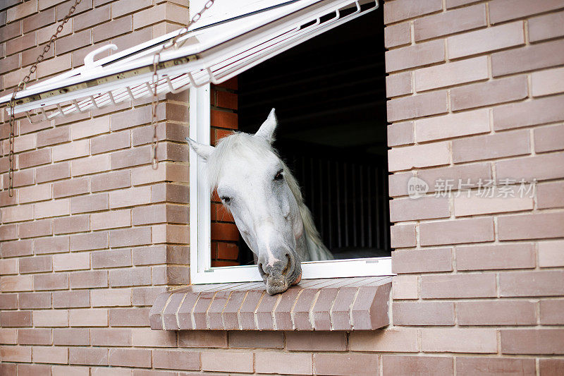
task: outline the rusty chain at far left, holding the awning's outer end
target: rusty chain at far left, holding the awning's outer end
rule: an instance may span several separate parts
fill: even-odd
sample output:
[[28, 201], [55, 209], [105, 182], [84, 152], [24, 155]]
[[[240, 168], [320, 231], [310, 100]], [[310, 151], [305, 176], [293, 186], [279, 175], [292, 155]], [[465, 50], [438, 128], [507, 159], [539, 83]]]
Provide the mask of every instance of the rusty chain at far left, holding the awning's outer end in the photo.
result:
[[63, 31], [65, 24], [68, 22], [68, 20], [71, 19], [73, 13], [75, 13], [76, 7], [78, 6], [78, 4], [80, 4], [80, 1], [82, 0], [75, 0], [75, 4], [71, 6], [71, 8], [68, 10], [68, 14], [65, 16], [65, 18], [63, 18], [59, 26], [57, 26], [57, 30], [55, 31], [54, 35], [51, 35], [51, 38], [49, 38], [49, 42], [47, 42], [47, 44], [44, 45], [43, 52], [39, 54], [39, 56], [37, 56], [35, 63], [33, 63], [33, 65], [30, 66], [29, 73], [27, 73], [27, 75], [25, 75], [23, 80], [21, 80], [18, 83], [18, 86], [16, 86], [16, 88], [13, 90], [12, 97], [10, 98], [10, 152], [8, 154], [8, 159], [10, 160], [10, 169], [8, 170], [8, 180], [9, 180], [8, 196], [10, 197], [13, 197], [13, 159], [14, 159], [13, 158], [13, 142], [14, 142], [13, 128], [14, 128], [14, 123], [16, 121], [16, 116], [14, 115], [14, 107], [16, 107], [16, 94], [18, 94], [20, 90], [25, 89], [25, 85], [27, 85], [27, 83], [30, 82], [31, 75], [35, 73], [35, 71], [37, 71], [37, 64], [41, 63], [43, 59], [45, 59], [44, 55], [47, 54], [47, 52], [49, 52], [49, 49], [51, 49], [51, 44], [55, 42], [57, 36], [61, 33], [61, 31]]

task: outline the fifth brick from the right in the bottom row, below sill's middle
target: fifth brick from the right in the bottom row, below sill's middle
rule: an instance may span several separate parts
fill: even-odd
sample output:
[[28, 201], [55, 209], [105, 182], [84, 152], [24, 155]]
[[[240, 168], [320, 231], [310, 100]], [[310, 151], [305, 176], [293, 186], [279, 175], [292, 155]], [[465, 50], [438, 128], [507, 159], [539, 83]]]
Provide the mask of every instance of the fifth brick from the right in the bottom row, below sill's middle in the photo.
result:
[[257, 352], [255, 353], [255, 371], [313, 375], [312, 356], [309, 353]]

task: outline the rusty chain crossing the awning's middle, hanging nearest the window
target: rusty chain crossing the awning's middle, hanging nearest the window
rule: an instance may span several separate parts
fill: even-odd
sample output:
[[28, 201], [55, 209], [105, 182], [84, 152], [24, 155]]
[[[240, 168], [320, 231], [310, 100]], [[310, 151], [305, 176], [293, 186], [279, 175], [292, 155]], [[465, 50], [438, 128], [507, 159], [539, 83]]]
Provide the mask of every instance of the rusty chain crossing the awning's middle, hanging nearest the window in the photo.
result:
[[196, 13], [184, 28], [180, 29], [178, 35], [176, 35], [176, 37], [173, 37], [173, 39], [170, 42], [166, 42], [165, 44], [163, 44], [163, 47], [161, 47], [161, 49], [159, 49], [159, 51], [157, 51], [153, 56], [153, 75], [152, 75], [153, 99], [151, 102], [151, 109], [152, 109], [151, 126], [153, 127], [153, 140], [151, 144], [151, 154], [152, 154], [152, 168], [155, 170], [159, 168], [159, 161], [157, 160], [157, 147], [159, 145], [159, 139], [157, 138], [157, 105], [158, 105], [157, 83], [159, 82], [159, 74], [157, 73], [157, 66], [161, 62], [161, 53], [171, 47], [174, 47], [175, 49], [177, 49], [178, 47], [182, 47], [183, 44], [185, 43], [185, 40], [183, 42], [180, 42], [180, 44], [178, 44], [178, 38], [187, 35], [188, 28], [190, 28], [190, 26], [193, 25], [194, 23], [197, 23], [197, 21], [200, 20], [200, 18], [202, 18], [202, 14], [204, 14], [204, 12], [207, 11], [209, 8], [212, 8], [214, 2], [215, 0], [207, 1], [207, 3], [204, 5], [204, 8], [202, 8], [201, 11]]

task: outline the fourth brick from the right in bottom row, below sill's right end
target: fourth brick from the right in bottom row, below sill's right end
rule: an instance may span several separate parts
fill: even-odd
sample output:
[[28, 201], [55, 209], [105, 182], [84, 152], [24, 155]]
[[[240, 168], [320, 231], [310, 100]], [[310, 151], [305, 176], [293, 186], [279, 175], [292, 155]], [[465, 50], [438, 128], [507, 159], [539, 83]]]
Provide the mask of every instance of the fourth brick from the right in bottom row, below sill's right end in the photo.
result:
[[378, 355], [360, 353], [316, 353], [317, 375], [378, 375]]

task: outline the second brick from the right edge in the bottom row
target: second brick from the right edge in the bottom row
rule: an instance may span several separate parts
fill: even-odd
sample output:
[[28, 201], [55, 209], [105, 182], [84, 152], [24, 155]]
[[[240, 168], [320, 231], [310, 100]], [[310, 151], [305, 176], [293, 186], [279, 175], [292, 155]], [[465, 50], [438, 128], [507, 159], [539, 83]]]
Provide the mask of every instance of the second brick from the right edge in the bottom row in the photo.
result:
[[457, 375], [534, 375], [534, 359], [525, 358], [456, 358]]

